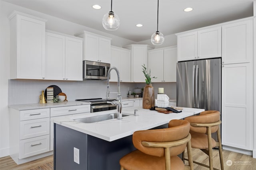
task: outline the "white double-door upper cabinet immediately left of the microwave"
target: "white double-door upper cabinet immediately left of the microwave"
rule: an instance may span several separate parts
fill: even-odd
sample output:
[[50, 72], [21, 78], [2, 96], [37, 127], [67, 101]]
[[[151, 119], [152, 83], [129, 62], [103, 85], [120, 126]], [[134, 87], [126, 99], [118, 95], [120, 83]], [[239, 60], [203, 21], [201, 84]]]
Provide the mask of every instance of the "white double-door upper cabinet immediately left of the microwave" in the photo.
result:
[[46, 32], [46, 80], [82, 81], [83, 40], [78, 37]]

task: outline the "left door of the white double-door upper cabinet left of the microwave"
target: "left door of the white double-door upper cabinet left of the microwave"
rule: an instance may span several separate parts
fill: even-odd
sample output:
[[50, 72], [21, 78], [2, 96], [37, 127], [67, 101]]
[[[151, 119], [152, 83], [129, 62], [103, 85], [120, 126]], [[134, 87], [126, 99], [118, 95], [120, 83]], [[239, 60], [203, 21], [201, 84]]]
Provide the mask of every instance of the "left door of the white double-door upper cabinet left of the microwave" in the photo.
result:
[[65, 78], [65, 36], [46, 32], [45, 79]]

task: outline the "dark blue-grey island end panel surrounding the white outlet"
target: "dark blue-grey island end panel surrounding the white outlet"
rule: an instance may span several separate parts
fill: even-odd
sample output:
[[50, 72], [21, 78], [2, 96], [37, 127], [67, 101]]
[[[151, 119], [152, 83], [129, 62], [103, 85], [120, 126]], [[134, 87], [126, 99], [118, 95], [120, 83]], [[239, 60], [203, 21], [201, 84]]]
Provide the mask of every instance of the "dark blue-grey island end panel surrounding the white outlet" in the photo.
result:
[[[87, 136], [54, 123], [54, 170], [87, 170]], [[80, 164], [74, 162], [74, 147]]]

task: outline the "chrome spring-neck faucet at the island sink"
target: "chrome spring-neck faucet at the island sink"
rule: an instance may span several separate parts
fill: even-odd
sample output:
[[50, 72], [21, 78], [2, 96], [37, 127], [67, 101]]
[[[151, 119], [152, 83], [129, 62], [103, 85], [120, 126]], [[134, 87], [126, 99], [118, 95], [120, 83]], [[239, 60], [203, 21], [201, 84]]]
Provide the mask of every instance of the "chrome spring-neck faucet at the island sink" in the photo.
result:
[[[117, 74], [117, 87], [118, 87], [118, 92], [110, 92], [109, 90], [109, 77], [110, 77], [110, 71], [111, 70], [116, 70], [116, 74]], [[112, 102], [107, 102], [107, 103], [111, 103], [112, 105], [117, 105], [117, 119], [122, 119], [122, 96], [121, 96], [121, 92], [120, 92], [120, 74], [119, 71], [116, 67], [111, 67], [108, 70], [107, 73], [107, 92], [106, 92], [106, 100], [110, 100], [109, 98], [109, 94], [110, 93], [117, 93], [117, 100], [114, 100]]]

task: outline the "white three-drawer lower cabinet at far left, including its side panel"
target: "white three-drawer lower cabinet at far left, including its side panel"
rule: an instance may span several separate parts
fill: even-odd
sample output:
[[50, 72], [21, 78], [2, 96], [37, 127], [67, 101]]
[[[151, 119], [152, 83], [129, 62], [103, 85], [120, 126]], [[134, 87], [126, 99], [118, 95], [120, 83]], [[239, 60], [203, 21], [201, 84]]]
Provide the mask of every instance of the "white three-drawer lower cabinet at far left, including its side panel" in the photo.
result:
[[23, 158], [50, 151], [50, 108], [10, 108], [9, 115], [10, 156], [17, 164], [24, 163]]

